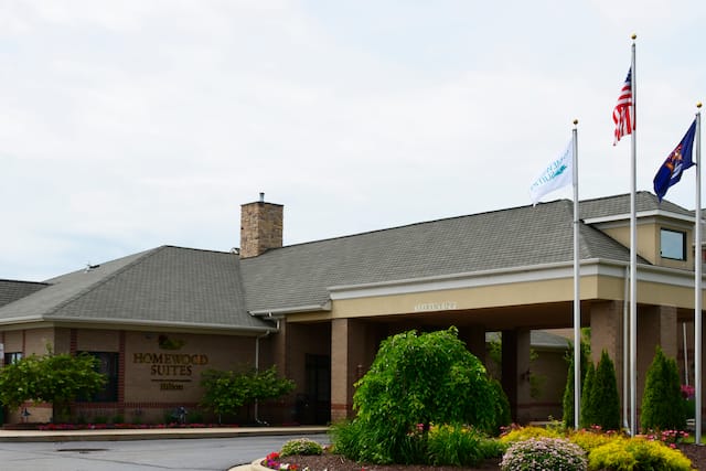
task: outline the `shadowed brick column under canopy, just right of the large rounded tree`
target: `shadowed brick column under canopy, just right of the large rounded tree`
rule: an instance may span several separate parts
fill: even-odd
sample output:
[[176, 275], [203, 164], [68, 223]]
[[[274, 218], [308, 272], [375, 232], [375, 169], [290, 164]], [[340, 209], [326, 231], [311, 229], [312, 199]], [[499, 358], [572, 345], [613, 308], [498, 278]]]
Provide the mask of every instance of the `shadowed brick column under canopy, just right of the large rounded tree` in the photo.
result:
[[515, 329], [502, 332], [502, 386], [510, 400], [514, 422], [531, 420], [530, 331]]

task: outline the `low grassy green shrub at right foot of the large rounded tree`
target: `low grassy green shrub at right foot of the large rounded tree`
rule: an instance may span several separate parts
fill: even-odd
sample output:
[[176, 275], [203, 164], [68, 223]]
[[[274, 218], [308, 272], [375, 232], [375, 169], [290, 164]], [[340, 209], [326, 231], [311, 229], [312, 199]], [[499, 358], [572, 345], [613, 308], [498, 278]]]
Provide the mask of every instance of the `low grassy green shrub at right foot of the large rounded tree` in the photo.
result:
[[474, 467], [486, 458], [502, 456], [505, 448], [472, 427], [435, 426], [427, 438], [428, 463], [432, 465]]

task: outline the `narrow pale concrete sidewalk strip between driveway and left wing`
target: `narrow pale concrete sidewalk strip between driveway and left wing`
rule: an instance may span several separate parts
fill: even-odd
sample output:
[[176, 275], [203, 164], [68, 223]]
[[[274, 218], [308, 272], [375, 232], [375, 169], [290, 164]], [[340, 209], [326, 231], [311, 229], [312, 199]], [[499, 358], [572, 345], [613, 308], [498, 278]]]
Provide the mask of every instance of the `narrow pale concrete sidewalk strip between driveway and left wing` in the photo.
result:
[[162, 440], [172, 438], [231, 438], [265, 435], [325, 433], [329, 427], [210, 427], [159, 429], [101, 429], [101, 430], [4, 430], [1, 441], [120, 441]]

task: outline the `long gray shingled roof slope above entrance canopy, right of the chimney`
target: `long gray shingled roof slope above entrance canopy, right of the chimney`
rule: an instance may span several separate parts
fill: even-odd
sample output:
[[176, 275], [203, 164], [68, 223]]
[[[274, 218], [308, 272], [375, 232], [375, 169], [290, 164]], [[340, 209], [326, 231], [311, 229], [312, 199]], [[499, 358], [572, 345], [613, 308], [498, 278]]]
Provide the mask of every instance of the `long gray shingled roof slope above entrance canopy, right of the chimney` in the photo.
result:
[[[248, 309], [322, 306], [333, 286], [570, 261], [573, 221], [559, 200], [271, 249], [242, 260]], [[581, 259], [629, 261], [606, 234], [579, 234]]]

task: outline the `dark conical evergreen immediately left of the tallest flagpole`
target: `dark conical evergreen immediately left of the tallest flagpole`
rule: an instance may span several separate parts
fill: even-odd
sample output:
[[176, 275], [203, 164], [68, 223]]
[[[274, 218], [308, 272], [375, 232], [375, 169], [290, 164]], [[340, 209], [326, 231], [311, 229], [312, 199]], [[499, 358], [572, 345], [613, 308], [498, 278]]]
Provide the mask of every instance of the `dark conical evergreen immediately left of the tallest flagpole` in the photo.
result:
[[599, 425], [603, 430], [619, 430], [620, 396], [618, 395], [616, 367], [605, 350], [600, 354], [598, 366], [596, 366], [590, 400], [595, 407], [592, 425]]

